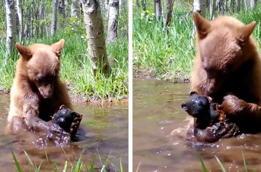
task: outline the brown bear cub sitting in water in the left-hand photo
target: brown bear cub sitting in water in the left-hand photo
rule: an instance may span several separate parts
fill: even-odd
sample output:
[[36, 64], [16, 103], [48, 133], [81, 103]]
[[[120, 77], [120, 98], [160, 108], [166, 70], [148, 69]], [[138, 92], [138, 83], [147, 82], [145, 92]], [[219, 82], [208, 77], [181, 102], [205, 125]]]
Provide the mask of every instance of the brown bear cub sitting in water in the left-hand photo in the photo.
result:
[[50, 46], [16, 44], [21, 56], [10, 93], [7, 133], [27, 129], [64, 133], [59, 125], [47, 122], [61, 105], [72, 109], [66, 86], [59, 77], [63, 46], [64, 39]]

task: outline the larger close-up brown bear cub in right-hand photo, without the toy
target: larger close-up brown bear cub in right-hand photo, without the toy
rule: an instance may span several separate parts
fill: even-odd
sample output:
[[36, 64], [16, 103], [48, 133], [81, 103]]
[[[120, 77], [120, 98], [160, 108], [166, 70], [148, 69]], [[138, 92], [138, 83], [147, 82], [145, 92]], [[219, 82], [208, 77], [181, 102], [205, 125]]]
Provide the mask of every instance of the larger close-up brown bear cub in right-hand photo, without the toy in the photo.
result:
[[256, 23], [244, 25], [221, 16], [207, 21], [193, 13], [197, 57], [192, 90], [221, 104], [242, 132], [261, 131], [261, 61], [251, 36]]

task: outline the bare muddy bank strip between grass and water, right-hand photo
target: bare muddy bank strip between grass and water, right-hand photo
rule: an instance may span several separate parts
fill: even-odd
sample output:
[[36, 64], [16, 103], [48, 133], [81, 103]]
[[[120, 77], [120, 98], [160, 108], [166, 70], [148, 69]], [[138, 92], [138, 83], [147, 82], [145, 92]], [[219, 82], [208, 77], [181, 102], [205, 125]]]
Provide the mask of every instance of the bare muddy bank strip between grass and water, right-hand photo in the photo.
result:
[[153, 79], [153, 80], [164, 80], [173, 83], [182, 82], [190, 83], [191, 75], [185, 72], [166, 73], [160, 77], [156, 77], [156, 71], [150, 68], [138, 68], [133, 67], [132, 70], [133, 78], [137, 79]]

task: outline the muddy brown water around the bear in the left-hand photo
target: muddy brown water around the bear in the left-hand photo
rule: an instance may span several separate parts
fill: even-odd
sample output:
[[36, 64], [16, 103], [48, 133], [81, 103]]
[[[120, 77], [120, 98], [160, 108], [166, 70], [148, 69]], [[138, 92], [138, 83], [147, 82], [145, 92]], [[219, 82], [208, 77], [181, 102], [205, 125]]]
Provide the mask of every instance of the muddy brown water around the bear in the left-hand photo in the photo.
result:
[[[14, 151], [16, 158], [23, 171], [33, 170], [29, 164], [28, 158], [23, 153], [25, 150], [33, 163], [39, 165], [41, 169], [54, 170], [53, 161], [63, 170], [64, 162], [68, 158], [74, 163], [83, 153], [83, 162], [89, 166], [98, 146], [99, 154], [103, 163], [106, 161], [110, 152], [110, 162], [120, 169], [120, 157], [123, 169], [128, 169], [128, 106], [119, 105], [112, 107], [93, 107], [74, 104], [75, 111], [83, 114], [83, 119], [80, 124], [78, 137], [79, 142], [69, 143], [64, 147], [64, 151], [60, 147], [52, 144], [46, 146], [50, 165], [48, 167], [45, 149], [41, 146], [33, 146], [32, 141], [37, 139], [37, 136], [32, 133], [21, 133], [19, 135], [6, 136], [5, 126], [6, 117], [9, 106], [9, 97], [0, 96], [0, 171], [16, 171], [14, 160], [10, 152], [10, 148]], [[96, 154], [95, 166], [101, 167], [101, 163]], [[75, 163], [74, 163], [75, 164]], [[114, 167], [109, 164], [108, 168], [115, 171]], [[71, 169], [68, 163], [67, 171]], [[86, 170], [86, 169], [85, 169]], [[34, 170], [33, 170], [34, 171]]]

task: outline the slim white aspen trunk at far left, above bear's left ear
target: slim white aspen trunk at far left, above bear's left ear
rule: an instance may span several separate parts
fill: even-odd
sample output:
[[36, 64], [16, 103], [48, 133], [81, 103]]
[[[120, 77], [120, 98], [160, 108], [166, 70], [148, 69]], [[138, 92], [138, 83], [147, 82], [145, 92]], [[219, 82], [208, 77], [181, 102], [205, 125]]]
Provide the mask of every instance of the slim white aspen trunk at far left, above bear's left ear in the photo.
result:
[[6, 55], [11, 56], [16, 43], [16, 21], [14, 0], [6, 0]]

